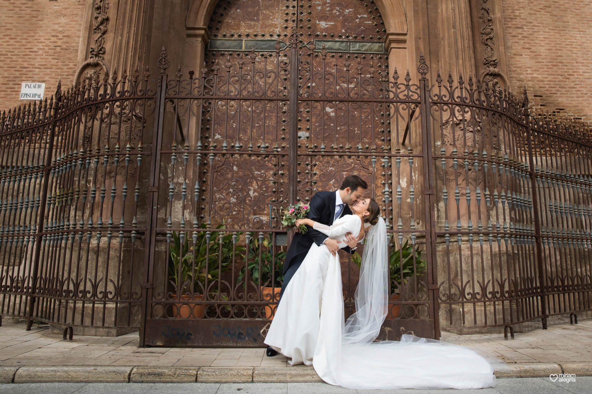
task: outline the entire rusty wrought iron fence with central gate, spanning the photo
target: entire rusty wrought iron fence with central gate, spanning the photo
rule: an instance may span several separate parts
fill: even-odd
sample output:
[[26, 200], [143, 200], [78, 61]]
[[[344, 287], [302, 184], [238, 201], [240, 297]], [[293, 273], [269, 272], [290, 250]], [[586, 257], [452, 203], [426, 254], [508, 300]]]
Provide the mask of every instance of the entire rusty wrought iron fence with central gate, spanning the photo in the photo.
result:
[[[156, 80], [95, 73], [3, 113], [0, 315], [261, 346], [289, 243], [281, 208], [349, 173], [388, 223], [382, 337], [591, 309], [588, 129], [470, 77], [430, 86], [423, 57], [411, 83], [298, 42], [209, 53], [172, 79], [163, 51]], [[356, 262], [342, 255], [347, 314]]]

